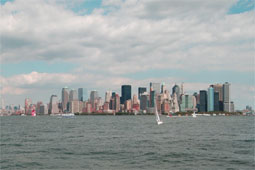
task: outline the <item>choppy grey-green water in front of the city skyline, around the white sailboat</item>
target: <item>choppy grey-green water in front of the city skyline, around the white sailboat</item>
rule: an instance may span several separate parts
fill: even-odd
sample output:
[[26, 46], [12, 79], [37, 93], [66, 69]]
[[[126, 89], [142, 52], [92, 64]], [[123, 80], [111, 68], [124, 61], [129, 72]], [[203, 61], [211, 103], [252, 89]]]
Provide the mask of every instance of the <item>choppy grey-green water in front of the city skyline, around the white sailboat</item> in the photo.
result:
[[254, 169], [254, 117], [1, 117], [0, 169]]

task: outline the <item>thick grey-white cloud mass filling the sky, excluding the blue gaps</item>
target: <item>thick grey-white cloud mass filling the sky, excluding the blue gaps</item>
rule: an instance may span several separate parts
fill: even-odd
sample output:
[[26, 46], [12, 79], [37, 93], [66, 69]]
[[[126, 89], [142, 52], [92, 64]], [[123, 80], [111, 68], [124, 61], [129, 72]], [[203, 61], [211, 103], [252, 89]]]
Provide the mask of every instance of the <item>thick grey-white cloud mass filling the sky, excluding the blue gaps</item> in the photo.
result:
[[[84, 85], [103, 90], [105, 82], [105, 88], [119, 89], [121, 83], [166, 81], [126, 76], [149, 70], [254, 71], [254, 11], [229, 15], [236, 0], [107, 0], [91, 14], [73, 12], [83, 2], [16, 0], [1, 6], [1, 63], [78, 65], [69, 73], [35, 70], [6, 77], [5, 86]], [[167, 73], [162, 74], [168, 80]]]

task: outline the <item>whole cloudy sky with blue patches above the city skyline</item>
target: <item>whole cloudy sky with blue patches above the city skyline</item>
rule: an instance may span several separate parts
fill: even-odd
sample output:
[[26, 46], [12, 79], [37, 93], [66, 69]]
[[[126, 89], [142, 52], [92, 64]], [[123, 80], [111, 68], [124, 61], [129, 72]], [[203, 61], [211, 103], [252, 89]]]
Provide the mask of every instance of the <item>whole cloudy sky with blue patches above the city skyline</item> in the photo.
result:
[[48, 103], [62, 87], [229, 82], [254, 105], [254, 0], [0, 0], [1, 100]]

